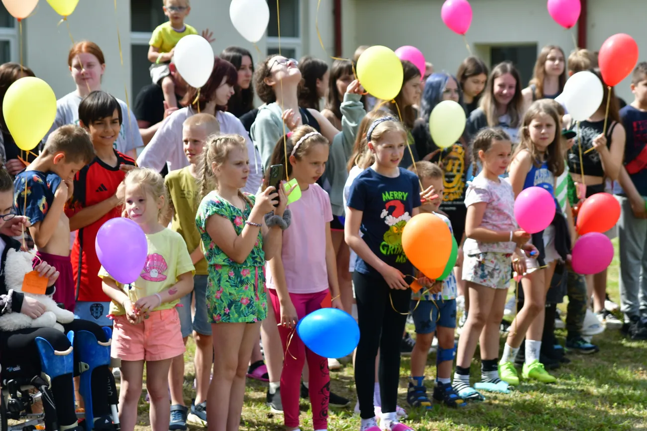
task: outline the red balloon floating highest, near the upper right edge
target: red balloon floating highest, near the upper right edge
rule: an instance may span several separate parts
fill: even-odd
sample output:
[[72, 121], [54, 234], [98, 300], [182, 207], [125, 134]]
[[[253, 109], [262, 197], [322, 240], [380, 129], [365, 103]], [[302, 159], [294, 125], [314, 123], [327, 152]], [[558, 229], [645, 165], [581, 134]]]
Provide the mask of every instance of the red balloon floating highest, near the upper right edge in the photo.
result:
[[606, 39], [598, 54], [602, 79], [609, 87], [615, 87], [627, 78], [638, 63], [638, 44], [628, 34], [619, 33]]

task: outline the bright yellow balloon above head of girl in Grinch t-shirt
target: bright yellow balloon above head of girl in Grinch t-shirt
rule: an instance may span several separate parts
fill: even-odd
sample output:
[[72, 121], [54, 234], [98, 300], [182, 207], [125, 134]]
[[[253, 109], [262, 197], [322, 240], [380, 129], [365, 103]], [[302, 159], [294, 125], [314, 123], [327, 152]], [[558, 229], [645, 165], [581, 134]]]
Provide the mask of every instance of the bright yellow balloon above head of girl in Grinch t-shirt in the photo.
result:
[[402, 61], [387, 47], [367, 48], [357, 60], [357, 78], [378, 99], [392, 100], [402, 88]]

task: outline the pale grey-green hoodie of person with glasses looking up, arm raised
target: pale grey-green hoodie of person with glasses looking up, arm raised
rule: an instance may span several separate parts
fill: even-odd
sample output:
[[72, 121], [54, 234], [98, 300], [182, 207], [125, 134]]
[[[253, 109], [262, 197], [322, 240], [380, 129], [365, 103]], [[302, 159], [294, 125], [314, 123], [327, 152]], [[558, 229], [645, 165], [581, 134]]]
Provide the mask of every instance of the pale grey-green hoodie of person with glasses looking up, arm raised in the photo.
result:
[[[342, 131], [334, 136], [330, 146], [328, 163], [323, 173], [323, 184], [329, 182], [331, 190], [329, 191], [330, 203], [333, 207], [333, 214], [336, 216], [344, 215], [344, 184], [348, 177], [346, 163], [348, 162], [355, 136], [359, 129], [362, 118], [366, 115], [364, 104], [360, 102], [359, 94], [344, 94], [344, 102], [340, 110], [342, 111]], [[276, 142], [283, 133], [289, 132], [289, 129], [283, 125], [281, 119], [283, 111], [278, 103], [263, 105], [258, 109], [256, 121], [252, 124], [250, 136], [261, 154], [263, 166], [267, 169], [272, 152]]]

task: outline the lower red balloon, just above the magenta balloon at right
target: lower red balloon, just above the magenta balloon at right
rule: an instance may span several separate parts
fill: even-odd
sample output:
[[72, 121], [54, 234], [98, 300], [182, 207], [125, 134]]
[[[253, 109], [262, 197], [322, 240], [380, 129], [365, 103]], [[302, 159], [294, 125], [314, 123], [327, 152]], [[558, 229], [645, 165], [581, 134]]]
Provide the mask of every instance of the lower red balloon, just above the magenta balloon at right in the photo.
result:
[[620, 219], [620, 203], [609, 193], [591, 194], [580, 206], [577, 231], [580, 235], [604, 233]]

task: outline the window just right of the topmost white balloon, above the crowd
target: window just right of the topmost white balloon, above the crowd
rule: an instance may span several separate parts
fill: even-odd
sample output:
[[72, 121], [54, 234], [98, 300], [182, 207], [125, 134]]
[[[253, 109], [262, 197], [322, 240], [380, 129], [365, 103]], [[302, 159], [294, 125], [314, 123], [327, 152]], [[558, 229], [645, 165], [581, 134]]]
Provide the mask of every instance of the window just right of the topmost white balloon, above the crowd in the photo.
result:
[[[268, 0], [270, 23], [267, 26], [267, 55], [279, 52], [279, 28], [276, 1]], [[279, 0], [281, 17], [281, 55], [287, 58], [301, 56], [301, 8], [299, 0]]]

